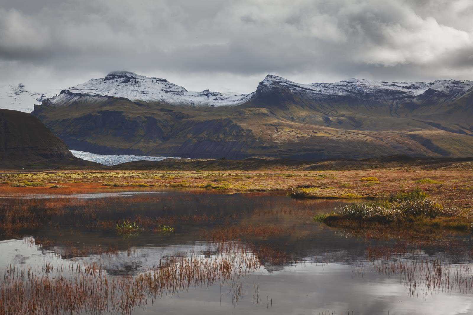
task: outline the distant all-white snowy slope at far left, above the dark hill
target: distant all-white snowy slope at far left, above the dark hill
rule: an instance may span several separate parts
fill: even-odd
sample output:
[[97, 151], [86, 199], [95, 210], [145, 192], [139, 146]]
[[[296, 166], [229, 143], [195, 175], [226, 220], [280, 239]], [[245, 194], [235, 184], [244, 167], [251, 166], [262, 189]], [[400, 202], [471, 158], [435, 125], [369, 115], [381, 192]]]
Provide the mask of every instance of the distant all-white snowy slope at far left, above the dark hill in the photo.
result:
[[[57, 91], [59, 92], [59, 91]], [[46, 93], [32, 92], [25, 85], [0, 85], [0, 108], [30, 113], [35, 104], [41, 104], [45, 99], [56, 95], [53, 91]]]

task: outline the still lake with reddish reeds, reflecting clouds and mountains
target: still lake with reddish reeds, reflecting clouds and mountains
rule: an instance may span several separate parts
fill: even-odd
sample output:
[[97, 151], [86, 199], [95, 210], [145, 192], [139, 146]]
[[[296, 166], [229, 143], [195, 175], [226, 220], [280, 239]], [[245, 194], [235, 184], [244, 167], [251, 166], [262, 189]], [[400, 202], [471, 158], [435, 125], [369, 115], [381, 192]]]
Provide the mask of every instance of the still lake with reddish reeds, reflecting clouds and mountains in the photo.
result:
[[18, 296], [47, 297], [50, 314], [473, 314], [471, 234], [413, 241], [312, 220], [337, 200], [49, 197], [0, 201], [0, 314], [27, 307]]

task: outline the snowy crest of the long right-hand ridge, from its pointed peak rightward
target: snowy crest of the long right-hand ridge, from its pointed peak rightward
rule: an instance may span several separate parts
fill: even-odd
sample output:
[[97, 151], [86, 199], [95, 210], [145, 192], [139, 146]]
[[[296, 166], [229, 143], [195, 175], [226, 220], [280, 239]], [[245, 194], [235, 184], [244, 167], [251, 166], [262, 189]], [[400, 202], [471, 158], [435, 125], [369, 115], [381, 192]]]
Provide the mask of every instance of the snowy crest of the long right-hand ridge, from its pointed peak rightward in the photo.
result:
[[268, 75], [260, 82], [257, 93], [273, 90], [274, 87], [289, 91], [303, 91], [305, 94], [313, 94], [315, 97], [324, 95], [416, 97], [429, 90], [456, 96], [473, 88], [473, 81], [386, 82], [351, 78], [335, 83], [299, 84], [283, 77]]

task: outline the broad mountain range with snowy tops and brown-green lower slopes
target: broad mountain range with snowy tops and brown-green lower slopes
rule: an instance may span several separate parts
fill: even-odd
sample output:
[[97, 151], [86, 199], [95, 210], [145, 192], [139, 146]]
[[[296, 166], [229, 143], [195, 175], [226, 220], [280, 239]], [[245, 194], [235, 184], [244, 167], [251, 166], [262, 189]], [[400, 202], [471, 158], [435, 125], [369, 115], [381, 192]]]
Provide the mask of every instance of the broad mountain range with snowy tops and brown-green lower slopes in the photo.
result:
[[253, 93], [222, 94], [114, 71], [42, 100], [33, 115], [70, 149], [102, 154], [473, 155], [473, 81], [298, 84], [268, 75]]

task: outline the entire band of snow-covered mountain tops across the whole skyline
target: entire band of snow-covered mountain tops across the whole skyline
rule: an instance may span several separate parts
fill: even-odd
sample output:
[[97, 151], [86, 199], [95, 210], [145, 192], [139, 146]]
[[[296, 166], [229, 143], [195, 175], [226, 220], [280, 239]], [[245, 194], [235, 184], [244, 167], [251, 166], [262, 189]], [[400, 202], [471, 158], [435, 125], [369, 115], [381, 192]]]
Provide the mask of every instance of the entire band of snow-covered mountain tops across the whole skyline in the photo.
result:
[[[422, 97], [436, 94], [444, 98], [455, 98], [473, 88], [473, 81], [436, 80], [433, 82], [386, 82], [366, 79], [347, 79], [335, 83], [300, 84], [283, 77], [266, 76], [256, 91], [250, 94], [219, 93], [204, 90], [187, 91], [184, 87], [157, 77], [145, 77], [129, 71], [113, 71], [104, 78], [91, 79], [55, 93], [33, 93], [25, 86], [8, 85], [0, 91], [0, 107], [31, 112], [35, 103], [47, 100], [56, 106], [67, 106], [73, 102], [96, 102], [104, 96], [124, 97], [131, 101], [164, 102], [171, 105], [191, 106], [235, 106], [255, 97], [271, 93], [274, 100], [283, 95], [296, 93], [306, 100], [333, 99], [339, 96], [360, 100], [394, 101], [401, 98]], [[279, 96], [278, 96], [279, 95]]]

